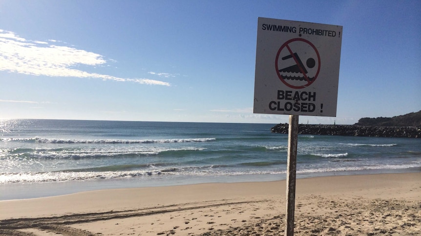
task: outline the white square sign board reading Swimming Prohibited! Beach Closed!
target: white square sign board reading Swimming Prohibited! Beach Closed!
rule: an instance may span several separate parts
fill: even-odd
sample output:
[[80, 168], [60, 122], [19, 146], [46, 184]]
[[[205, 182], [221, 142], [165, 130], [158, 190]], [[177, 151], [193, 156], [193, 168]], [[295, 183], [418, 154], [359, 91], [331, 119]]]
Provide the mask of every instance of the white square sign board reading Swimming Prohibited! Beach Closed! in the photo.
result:
[[342, 26], [258, 18], [254, 113], [336, 116]]

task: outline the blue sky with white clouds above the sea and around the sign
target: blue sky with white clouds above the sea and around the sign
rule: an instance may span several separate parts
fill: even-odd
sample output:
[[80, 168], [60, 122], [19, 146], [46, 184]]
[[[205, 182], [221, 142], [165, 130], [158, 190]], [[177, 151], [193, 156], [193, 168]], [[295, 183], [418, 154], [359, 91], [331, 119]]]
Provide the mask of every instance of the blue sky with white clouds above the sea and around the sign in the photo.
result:
[[421, 109], [421, 1], [0, 1], [0, 119], [285, 123], [253, 114], [257, 18], [343, 26], [337, 117]]

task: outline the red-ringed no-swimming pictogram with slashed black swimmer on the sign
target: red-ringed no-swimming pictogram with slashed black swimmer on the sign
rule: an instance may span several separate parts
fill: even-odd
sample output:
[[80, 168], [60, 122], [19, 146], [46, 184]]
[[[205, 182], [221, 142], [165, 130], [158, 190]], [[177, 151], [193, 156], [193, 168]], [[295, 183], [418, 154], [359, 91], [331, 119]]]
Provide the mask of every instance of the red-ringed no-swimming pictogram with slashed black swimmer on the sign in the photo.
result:
[[279, 79], [293, 89], [311, 85], [320, 72], [320, 55], [316, 47], [303, 38], [293, 38], [279, 48], [275, 59]]

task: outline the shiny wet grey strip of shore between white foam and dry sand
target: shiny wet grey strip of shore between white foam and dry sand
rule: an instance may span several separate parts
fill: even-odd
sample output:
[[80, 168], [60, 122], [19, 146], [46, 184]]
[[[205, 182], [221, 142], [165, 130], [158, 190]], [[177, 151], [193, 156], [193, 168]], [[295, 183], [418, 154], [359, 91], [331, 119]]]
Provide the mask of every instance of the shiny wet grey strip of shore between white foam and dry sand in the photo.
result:
[[[297, 179], [421, 172], [420, 167], [405, 169], [371, 169], [354, 171], [333, 171], [315, 173], [297, 173]], [[99, 179], [69, 182], [18, 182], [0, 184], [0, 201], [25, 200], [56, 197], [79, 192], [105, 189], [144, 188], [180, 186], [201, 183], [238, 183], [238, 182], [274, 182], [283, 181], [286, 174], [270, 175], [233, 175], [233, 176], [144, 176], [130, 179]]]

